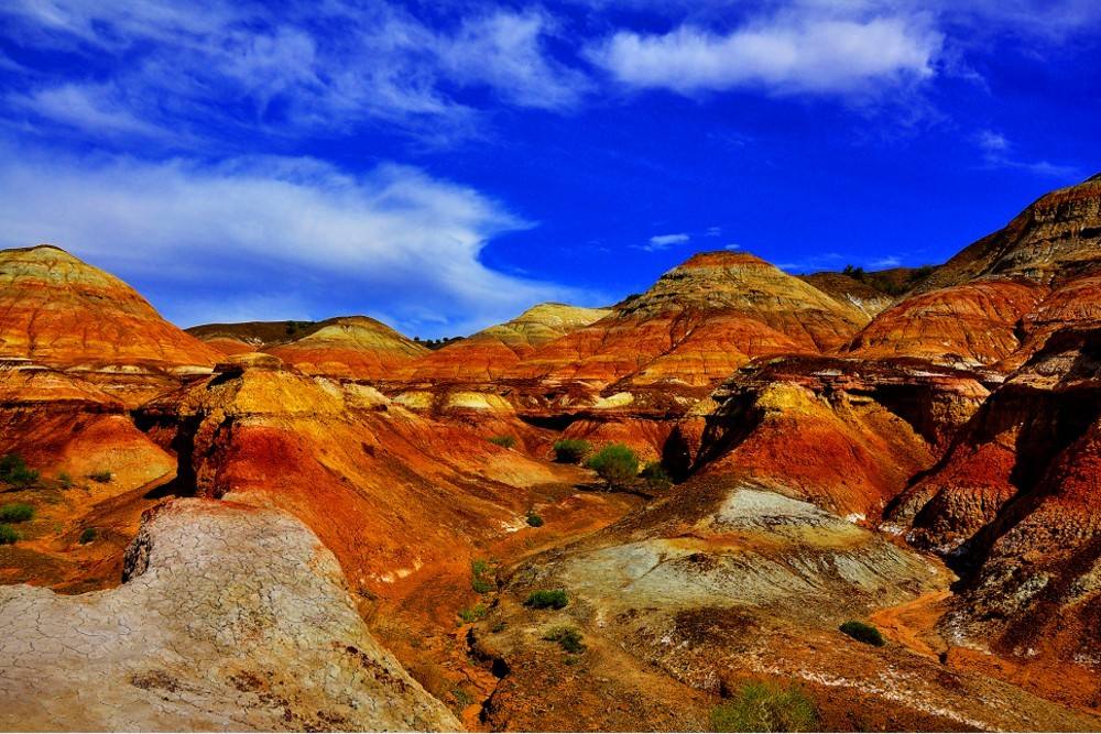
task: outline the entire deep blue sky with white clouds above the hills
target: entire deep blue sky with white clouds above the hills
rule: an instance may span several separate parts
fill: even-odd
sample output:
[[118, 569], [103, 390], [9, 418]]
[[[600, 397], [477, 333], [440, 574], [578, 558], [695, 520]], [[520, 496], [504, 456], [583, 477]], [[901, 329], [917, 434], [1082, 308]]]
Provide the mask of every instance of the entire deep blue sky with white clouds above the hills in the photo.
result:
[[14, 0], [0, 247], [422, 337], [699, 250], [937, 263], [1101, 169], [1098, 69], [1095, 0]]

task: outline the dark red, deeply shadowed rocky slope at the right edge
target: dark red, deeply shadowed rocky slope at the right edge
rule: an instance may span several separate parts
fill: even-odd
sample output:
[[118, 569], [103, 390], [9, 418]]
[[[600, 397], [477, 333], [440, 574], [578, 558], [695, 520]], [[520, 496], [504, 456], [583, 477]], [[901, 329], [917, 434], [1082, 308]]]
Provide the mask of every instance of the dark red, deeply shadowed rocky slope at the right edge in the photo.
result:
[[1101, 330], [1058, 332], [897, 502], [913, 541], [968, 571], [946, 622], [961, 640], [1095, 665], [1099, 430]]

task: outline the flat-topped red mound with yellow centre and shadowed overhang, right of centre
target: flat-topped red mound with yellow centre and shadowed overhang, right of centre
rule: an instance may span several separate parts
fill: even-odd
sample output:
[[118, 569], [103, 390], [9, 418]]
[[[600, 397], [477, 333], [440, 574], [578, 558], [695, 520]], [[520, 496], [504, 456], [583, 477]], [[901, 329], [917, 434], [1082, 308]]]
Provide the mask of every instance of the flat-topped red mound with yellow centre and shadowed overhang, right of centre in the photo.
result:
[[916, 360], [762, 360], [682, 421], [666, 462], [737, 471], [841, 515], [875, 517], [986, 395], [975, 375]]

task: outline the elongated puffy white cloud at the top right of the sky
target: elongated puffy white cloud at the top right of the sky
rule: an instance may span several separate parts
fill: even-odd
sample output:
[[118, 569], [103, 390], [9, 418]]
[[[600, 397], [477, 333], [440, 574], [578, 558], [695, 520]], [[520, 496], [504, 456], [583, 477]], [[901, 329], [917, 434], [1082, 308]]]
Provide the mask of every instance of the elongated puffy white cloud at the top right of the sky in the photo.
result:
[[727, 33], [691, 24], [665, 34], [620, 31], [589, 56], [631, 87], [846, 94], [933, 76], [942, 41], [918, 17], [784, 13]]

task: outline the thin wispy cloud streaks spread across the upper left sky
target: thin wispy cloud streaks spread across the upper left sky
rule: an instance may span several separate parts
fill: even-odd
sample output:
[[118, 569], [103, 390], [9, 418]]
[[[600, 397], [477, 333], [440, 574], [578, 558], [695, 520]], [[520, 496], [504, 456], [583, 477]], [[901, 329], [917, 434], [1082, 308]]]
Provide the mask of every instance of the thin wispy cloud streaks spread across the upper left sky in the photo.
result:
[[[495, 10], [444, 28], [385, 2], [24, 0], [0, 23], [28, 47], [95, 59], [95, 78], [28, 75], [9, 108], [109, 133], [189, 128], [346, 132], [366, 122], [428, 136], [469, 133], [464, 88], [520, 107], [567, 110], [587, 77], [546, 48], [546, 14]], [[110, 64], [105, 74], [103, 68]], [[231, 100], [231, 103], [227, 103]]]

